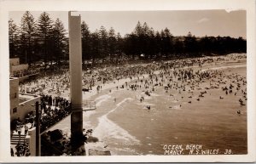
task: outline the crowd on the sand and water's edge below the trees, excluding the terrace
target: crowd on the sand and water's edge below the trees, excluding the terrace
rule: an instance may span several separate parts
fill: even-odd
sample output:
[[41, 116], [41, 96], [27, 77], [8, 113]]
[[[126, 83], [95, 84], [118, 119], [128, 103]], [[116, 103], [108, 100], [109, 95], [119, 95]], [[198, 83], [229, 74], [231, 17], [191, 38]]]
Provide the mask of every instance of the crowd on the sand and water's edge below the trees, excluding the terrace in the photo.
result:
[[[246, 54], [153, 61], [151, 63], [123, 65], [122, 67], [112, 65], [104, 68], [92, 68], [91, 70], [83, 71], [83, 91], [88, 92], [93, 87], [96, 87], [96, 91], [99, 92], [105, 84], [116, 82], [116, 88], [129, 87], [131, 90], [137, 90], [137, 88], [149, 90], [151, 86], [152, 92], [155, 87], [162, 86], [166, 88], [166, 92], [168, 92], [167, 88], [175, 88], [179, 93], [189, 88], [189, 92], [192, 92], [196, 87], [199, 88], [199, 85], [206, 80], [210, 80], [210, 86], [207, 86], [206, 90], [219, 88], [221, 84], [224, 84], [222, 82], [224, 77], [227, 79], [237, 79], [236, 83], [242, 81], [237, 84], [240, 85], [238, 88], [241, 88], [241, 85], [244, 86], [246, 84], [246, 77], [238, 75], [225, 76], [224, 71], [221, 69], [202, 70], [202, 66], [218, 66], [224, 62], [229, 63], [239, 59], [246, 59]], [[217, 82], [215, 82], [215, 77], [218, 79]], [[126, 79], [126, 82], [118, 86], [119, 80], [122, 79]], [[134, 83], [132, 83], [133, 81]], [[128, 82], [130, 82], [129, 85]], [[63, 68], [49, 76], [42, 76], [32, 82], [21, 84], [20, 91], [40, 95], [49, 94], [56, 97], [62, 96], [65, 99], [69, 99], [69, 83], [69, 71], [67, 68]], [[231, 82], [231, 84], [235, 85], [234, 82]], [[229, 90], [229, 92], [231, 91]], [[246, 95], [245, 90], [243, 94]], [[244, 101], [245, 99], [242, 102], [244, 103]]]

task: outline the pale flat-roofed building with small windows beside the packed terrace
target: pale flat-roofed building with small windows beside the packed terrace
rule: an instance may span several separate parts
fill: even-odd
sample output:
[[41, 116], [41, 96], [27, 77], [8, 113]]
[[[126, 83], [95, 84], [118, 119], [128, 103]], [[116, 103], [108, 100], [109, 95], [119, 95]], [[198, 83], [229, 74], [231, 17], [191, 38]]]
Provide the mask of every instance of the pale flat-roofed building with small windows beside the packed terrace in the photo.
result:
[[40, 96], [29, 93], [19, 93], [19, 78], [9, 78], [9, 100], [10, 100], [10, 119], [13, 121], [20, 117], [24, 120], [27, 113], [35, 110], [36, 101], [40, 101]]

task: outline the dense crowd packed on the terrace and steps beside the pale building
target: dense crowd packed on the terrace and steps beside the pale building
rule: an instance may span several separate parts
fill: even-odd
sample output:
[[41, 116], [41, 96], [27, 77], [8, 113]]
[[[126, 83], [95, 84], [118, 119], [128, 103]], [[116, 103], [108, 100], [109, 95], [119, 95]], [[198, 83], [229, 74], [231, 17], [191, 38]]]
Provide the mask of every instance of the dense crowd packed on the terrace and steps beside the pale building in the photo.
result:
[[[60, 122], [71, 113], [71, 104], [67, 99], [61, 97], [52, 98], [51, 95], [42, 95], [40, 102], [39, 122], [41, 133], [44, 133], [46, 129], [53, 126], [56, 122]], [[14, 132], [18, 133], [19, 138], [21, 134], [27, 135], [29, 128], [36, 126], [35, 119], [35, 111], [31, 111], [25, 116], [24, 122], [20, 120], [20, 117], [11, 122], [11, 137]], [[23, 132], [23, 128], [24, 133], [21, 133]], [[19, 142], [15, 145], [15, 150], [11, 148], [11, 156], [30, 156], [29, 151], [29, 146], [26, 142]]]

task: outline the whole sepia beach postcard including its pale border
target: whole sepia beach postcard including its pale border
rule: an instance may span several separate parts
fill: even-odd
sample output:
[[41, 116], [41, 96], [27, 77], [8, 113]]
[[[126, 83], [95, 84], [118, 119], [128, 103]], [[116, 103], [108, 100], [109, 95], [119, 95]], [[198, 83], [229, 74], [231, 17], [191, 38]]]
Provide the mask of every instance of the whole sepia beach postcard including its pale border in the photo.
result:
[[247, 8], [7, 12], [9, 161], [255, 160]]

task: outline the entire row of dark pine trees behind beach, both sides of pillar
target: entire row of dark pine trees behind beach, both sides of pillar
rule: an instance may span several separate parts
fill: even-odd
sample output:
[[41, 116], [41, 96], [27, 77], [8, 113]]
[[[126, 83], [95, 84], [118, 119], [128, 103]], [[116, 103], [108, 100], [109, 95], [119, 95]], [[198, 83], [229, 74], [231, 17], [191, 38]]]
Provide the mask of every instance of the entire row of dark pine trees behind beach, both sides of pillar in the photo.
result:
[[[246, 53], [247, 41], [242, 37], [195, 37], [173, 36], [166, 28], [154, 31], [145, 22], [138, 21], [134, 31], [121, 37], [111, 27], [104, 26], [90, 31], [81, 24], [83, 63], [98, 59], [116, 62], [122, 59], [175, 59], [199, 57], [212, 54]], [[61, 20], [52, 20], [48, 13], [40, 14], [38, 20], [26, 11], [20, 25], [9, 20], [9, 57], [19, 57], [21, 63], [29, 65], [44, 63], [61, 64], [68, 59], [67, 30]]]

